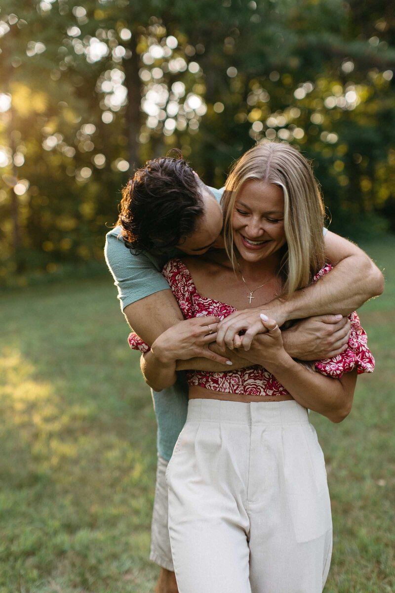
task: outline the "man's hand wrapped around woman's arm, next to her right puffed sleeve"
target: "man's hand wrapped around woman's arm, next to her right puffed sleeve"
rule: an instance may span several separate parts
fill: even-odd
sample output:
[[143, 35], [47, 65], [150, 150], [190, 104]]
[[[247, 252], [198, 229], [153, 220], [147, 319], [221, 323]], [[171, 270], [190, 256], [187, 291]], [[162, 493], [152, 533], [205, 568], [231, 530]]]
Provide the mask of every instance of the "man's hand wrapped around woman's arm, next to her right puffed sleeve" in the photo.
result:
[[348, 343], [351, 323], [342, 315], [317, 315], [297, 321], [282, 331], [284, 348], [292, 358], [317, 361], [343, 352]]

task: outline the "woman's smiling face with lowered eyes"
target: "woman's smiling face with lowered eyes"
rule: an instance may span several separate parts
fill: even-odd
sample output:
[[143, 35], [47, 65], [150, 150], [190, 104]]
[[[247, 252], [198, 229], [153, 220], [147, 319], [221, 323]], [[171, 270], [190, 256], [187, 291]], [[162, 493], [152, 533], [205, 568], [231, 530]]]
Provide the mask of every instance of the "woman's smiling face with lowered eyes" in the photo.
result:
[[243, 183], [233, 208], [233, 242], [243, 260], [258, 262], [285, 244], [284, 193], [274, 183]]

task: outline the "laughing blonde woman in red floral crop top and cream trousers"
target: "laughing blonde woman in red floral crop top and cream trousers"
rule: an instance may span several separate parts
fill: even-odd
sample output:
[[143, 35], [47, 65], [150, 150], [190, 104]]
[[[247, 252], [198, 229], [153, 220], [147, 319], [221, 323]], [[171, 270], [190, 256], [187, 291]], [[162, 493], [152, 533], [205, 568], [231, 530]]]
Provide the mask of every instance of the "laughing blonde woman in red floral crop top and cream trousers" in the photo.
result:
[[[172, 260], [163, 270], [185, 318], [223, 319], [287, 298], [330, 270], [323, 265], [319, 190], [291, 146], [262, 144], [243, 155], [227, 180], [223, 208], [226, 253]], [[307, 409], [341, 422], [351, 410], [357, 371], [372, 371], [357, 314], [351, 322], [348, 349], [316, 362], [319, 372], [290, 358], [275, 320], [263, 315], [266, 333], [248, 352], [240, 349], [242, 336], [235, 339], [246, 368], [188, 374], [188, 419], [167, 471], [180, 593], [322, 591], [332, 521]], [[216, 324], [201, 331], [214, 338]], [[177, 340], [175, 326], [144, 355], [146, 381], [156, 390], [175, 381], [170, 352]], [[137, 336], [130, 341], [148, 349]]]

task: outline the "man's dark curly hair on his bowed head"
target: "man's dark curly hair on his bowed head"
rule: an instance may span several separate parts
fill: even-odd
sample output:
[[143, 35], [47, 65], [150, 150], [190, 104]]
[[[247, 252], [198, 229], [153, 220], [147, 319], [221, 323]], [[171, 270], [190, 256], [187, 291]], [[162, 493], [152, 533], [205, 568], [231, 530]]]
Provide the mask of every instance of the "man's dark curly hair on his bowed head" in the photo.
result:
[[179, 245], [203, 214], [204, 187], [181, 153], [147, 161], [122, 190], [117, 224], [126, 246], [158, 251]]

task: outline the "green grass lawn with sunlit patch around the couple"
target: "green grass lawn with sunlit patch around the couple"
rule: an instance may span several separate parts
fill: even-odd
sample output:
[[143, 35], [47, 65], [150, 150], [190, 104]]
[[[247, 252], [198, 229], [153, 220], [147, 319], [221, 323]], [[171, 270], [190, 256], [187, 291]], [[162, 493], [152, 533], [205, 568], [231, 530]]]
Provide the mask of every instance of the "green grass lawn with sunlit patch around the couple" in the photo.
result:
[[[326, 593], [394, 575], [395, 240], [368, 247], [386, 294], [361, 310], [377, 361], [354, 409], [313, 416], [334, 522]], [[156, 425], [110, 275], [0, 297], [0, 593], [146, 593]]]

